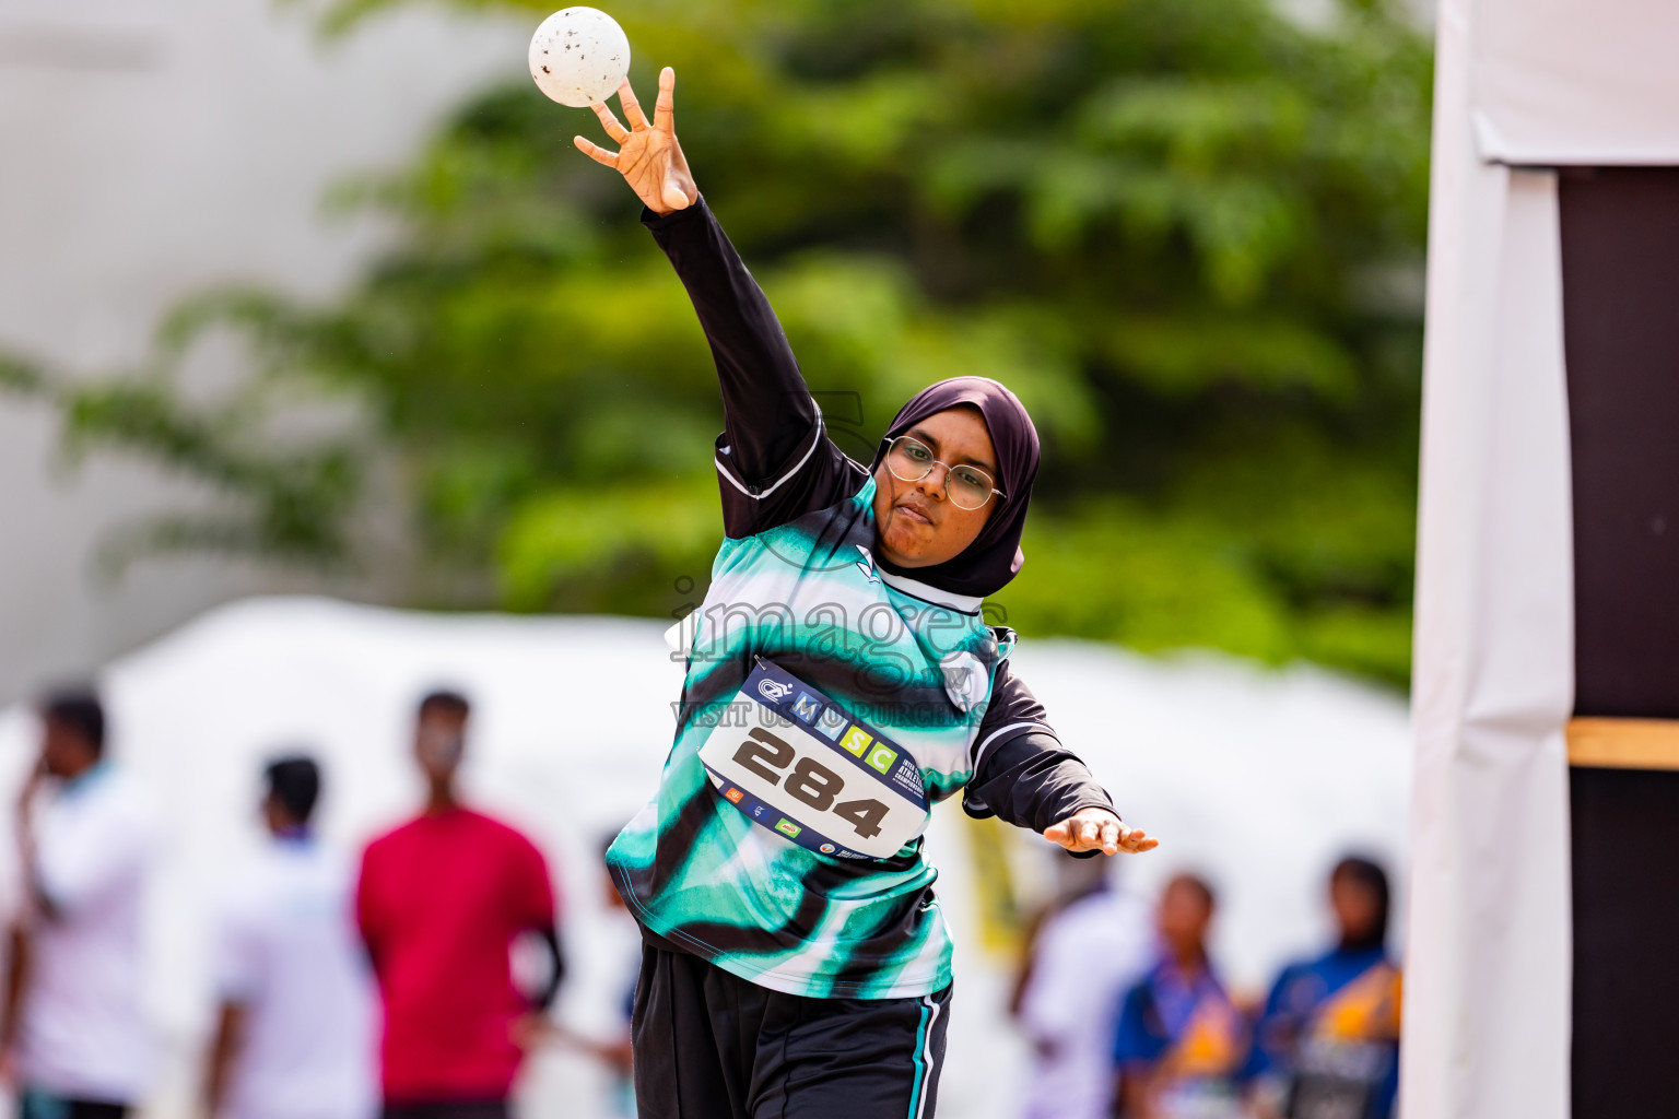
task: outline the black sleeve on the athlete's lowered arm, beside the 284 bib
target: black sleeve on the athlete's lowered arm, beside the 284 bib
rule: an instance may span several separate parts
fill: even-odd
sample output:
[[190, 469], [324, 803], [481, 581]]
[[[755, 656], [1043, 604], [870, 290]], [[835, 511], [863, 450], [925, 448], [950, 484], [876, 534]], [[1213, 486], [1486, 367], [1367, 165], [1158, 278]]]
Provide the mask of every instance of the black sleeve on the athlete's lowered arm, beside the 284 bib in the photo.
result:
[[1091, 807], [1111, 810], [1113, 800], [1078, 755], [1061, 745], [1043, 703], [1004, 661], [974, 738], [974, 777], [962, 794], [962, 810], [1041, 832]]

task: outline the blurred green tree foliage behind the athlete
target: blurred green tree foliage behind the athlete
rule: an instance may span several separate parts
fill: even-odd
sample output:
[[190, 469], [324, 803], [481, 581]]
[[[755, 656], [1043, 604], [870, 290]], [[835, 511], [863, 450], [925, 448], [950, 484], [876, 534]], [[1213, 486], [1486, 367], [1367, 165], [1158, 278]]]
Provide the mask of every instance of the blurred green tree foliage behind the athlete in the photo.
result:
[[[327, 25], [401, 0], [344, 0]], [[531, 23], [552, 0], [524, 7]], [[1029, 636], [1409, 671], [1431, 57], [1404, 13], [1263, 0], [620, 0], [675, 65], [702, 190], [855, 455], [982, 372], [1044, 436]], [[396, 465], [432, 606], [668, 614], [719, 539], [709, 352], [599, 139], [524, 74], [334, 203], [401, 235], [341, 300], [222, 292], [275, 384], [361, 409], [353, 453], [257, 436], [168, 374], [65, 389], [81, 441], [240, 495], [213, 545], [346, 562]], [[190, 528], [190, 527], [188, 527]], [[698, 579], [700, 587], [682, 580]], [[690, 591], [682, 592], [682, 587]]]

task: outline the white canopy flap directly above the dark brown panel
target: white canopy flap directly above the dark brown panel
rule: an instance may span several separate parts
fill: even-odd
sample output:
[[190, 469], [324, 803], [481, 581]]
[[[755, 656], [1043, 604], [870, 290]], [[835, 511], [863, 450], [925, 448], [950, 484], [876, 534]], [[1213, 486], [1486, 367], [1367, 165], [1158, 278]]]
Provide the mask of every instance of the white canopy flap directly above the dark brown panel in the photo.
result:
[[1469, 99], [1483, 159], [1679, 163], [1679, 3], [1442, 0], [1474, 20]]

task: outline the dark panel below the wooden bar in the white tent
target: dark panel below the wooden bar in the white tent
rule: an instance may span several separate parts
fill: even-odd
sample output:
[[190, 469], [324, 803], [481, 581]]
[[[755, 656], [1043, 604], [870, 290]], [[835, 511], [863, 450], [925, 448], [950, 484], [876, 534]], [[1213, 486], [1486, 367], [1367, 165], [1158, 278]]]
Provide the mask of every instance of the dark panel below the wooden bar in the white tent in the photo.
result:
[[1679, 773], [1575, 768], [1573, 1119], [1679, 1116]]

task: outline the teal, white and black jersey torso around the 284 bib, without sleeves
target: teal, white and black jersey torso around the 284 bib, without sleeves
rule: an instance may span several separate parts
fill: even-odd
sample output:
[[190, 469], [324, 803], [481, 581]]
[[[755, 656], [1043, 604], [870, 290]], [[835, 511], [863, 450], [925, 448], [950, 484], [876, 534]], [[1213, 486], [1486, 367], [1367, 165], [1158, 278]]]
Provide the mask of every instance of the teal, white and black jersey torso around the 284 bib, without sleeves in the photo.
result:
[[[918, 841], [888, 859], [856, 862], [754, 824], [717, 794], [700, 745], [729, 720], [762, 658], [913, 755], [937, 802], [974, 775], [974, 745], [1002, 659], [977, 609], [881, 577], [868, 557], [871, 497], [870, 480], [838, 505], [724, 544], [697, 612], [677, 745], [658, 795], [608, 856], [651, 931], [796, 995], [942, 990], [950, 938], [934, 901], [934, 869]], [[960, 666], [952, 679], [975, 693], [967, 710], [952, 701], [942, 664]]]

